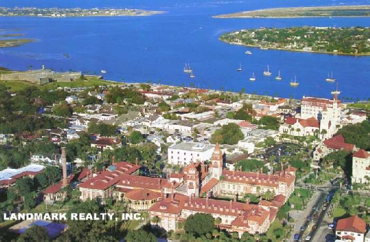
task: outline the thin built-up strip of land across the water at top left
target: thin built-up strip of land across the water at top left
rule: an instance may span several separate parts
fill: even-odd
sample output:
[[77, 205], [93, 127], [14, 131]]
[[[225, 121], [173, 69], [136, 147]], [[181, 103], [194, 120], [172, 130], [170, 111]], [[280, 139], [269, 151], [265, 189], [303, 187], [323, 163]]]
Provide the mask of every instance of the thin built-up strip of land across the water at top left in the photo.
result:
[[128, 8], [0, 8], [0, 16], [11, 17], [113, 17], [149, 16], [162, 13], [165, 12]]

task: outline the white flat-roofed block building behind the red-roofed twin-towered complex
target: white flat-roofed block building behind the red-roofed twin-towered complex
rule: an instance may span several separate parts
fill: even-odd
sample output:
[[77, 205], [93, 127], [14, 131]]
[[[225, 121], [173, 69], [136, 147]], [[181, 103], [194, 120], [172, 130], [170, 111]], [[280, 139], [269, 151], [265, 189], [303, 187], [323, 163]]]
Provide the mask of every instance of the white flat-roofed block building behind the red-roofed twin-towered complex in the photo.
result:
[[174, 165], [189, 165], [190, 162], [210, 160], [213, 144], [186, 142], [170, 146], [168, 149], [168, 162]]

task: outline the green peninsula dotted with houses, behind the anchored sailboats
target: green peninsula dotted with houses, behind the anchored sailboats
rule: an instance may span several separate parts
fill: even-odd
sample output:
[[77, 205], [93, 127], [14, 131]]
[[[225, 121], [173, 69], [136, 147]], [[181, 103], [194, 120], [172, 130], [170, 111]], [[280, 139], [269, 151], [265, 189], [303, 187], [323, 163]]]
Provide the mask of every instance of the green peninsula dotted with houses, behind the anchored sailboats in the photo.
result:
[[288, 50], [346, 54], [370, 54], [370, 28], [293, 27], [242, 29], [219, 37], [226, 43], [260, 47], [263, 50]]

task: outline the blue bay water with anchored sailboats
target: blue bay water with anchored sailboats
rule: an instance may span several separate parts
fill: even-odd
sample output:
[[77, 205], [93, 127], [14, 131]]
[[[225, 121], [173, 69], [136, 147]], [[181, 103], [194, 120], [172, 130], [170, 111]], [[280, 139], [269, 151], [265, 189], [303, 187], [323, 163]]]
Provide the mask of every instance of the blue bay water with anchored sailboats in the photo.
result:
[[[370, 4], [370, 1], [346, 1]], [[337, 56], [277, 50], [259, 50], [229, 45], [218, 40], [220, 34], [259, 27], [348, 27], [370, 25], [370, 18], [300, 19], [213, 19], [211, 16], [284, 6], [339, 5], [340, 1], [0, 1], [0, 6], [38, 6], [59, 8], [144, 8], [165, 10], [150, 17], [36, 18], [0, 17], [0, 29], [20, 29], [36, 43], [0, 50], [0, 66], [26, 70], [45, 64], [54, 70], [82, 70], [100, 73], [107, 80], [185, 84], [211, 89], [226, 89], [294, 98], [303, 95], [330, 97], [336, 84], [325, 82], [332, 71], [342, 97], [370, 98], [370, 57]], [[245, 54], [251, 50], [252, 55]], [[190, 63], [194, 79], [183, 73]], [[242, 72], [236, 68], [242, 64]], [[272, 77], [264, 77], [270, 65]], [[277, 71], [283, 77], [274, 79]], [[256, 82], [250, 82], [252, 73]], [[298, 87], [291, 87], [297, 77]]]

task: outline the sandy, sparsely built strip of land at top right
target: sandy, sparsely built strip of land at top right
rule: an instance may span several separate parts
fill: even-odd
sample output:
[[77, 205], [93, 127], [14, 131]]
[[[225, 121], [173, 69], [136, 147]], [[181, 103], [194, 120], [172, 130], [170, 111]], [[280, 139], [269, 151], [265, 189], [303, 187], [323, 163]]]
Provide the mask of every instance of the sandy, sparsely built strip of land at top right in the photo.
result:
[[370, 6], [323, 6], [302, 8], [268, 8], [215, 15], [217, 18], [234, 17], [370, 17]]

